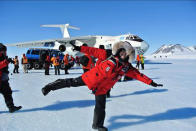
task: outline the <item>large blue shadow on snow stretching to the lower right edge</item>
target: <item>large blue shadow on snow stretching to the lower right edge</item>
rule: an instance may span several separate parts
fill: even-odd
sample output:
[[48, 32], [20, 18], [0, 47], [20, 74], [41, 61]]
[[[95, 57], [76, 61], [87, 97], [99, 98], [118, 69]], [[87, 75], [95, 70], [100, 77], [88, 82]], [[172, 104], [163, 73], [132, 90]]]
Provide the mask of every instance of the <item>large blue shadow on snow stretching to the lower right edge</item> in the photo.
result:
[[[109, 130], [119, 129], [127, 126], [135, 126], [140, 124], [145, 124], [149, 122], [157, 122], [157, 121], [166, 121], [166, 120], [178, 120], [178, 119], [189, 119], [196, 117], [196, 108], [193, 107], [185, 107], [178, 109], [170, 109], [166, 112], [161, 112], [157, 114], [152, 114], [148, 116], [143, 115], [120, 115], [120, 116], [112, 116], [109, 119]], [[131, 119], [134, 119], [131, 122]], [[138, 119], [138, 121], [135, 121]], [[120, 122], [119, 120], [126, 120], [126, 122]], [[130, 122], [127, 122], [130, 120]]]

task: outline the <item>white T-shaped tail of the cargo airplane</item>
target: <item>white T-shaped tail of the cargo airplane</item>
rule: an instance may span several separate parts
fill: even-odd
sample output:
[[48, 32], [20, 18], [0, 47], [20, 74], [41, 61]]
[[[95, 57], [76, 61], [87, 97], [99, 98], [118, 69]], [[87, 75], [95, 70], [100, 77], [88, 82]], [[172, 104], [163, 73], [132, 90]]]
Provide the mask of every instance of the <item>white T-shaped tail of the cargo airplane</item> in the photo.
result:
[[58, 24], [58, 25], [41, 25], [41, 27], [57, 27], [61, 29], [63, 38], [70, 38], [68, 28], [74, 30], [80, 30], [78, 27], [70, 26], [69, 24]]

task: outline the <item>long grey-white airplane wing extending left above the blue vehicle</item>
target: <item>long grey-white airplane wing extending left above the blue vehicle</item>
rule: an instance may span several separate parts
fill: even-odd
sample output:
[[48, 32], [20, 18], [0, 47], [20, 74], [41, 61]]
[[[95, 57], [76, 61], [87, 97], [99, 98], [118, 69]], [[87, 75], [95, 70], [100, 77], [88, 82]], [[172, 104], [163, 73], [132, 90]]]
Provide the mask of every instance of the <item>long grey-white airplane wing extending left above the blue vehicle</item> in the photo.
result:
[[89, 46], [94, 46], [96, 38], [94, 36], [81, 36], [72, 38], [62, 38], [62, 39], [51, 39], [51, 40], [40, 40], [40, 41], [29, 41], [29, 42], [19, 42], [14, 44], [5, 44], [6, 46], [16, 46], [16, 47], [54, 47], [55, 42], [58, 42], [66, 47], [71, 46], [69, 42], [71, 40], [78, 40], [83, 43], [88, 43]]

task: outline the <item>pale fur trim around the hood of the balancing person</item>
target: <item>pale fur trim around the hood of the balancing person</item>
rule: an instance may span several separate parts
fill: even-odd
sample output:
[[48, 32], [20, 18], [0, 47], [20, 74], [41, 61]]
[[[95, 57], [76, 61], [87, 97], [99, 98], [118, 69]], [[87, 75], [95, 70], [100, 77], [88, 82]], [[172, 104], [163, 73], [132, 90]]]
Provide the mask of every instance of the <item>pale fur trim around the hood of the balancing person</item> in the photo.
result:
[[126, 41], [119, 41], [113, 45], [112, 54], [116, 55], [118, 49], [124, 48], [126, 50], [127, 55], [129, 56], [129, 63], [135, 60], [135, 49], [129, 42]]

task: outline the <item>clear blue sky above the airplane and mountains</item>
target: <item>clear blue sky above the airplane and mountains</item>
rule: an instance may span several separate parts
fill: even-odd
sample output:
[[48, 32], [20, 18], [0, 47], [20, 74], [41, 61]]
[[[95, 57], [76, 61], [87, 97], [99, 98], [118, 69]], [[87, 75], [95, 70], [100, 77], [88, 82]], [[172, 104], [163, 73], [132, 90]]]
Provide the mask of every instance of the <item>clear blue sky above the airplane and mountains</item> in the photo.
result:
[[163, 44], [196, 45], [194, 0], [0, 1], [2, 43], [61, 38], [60, 29], [40, 25], [65, 23], [81, 28], [71, 36], [136, 34], [150, 44], [147, 54]]

